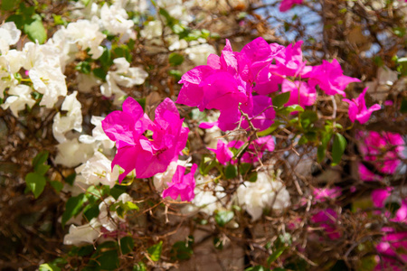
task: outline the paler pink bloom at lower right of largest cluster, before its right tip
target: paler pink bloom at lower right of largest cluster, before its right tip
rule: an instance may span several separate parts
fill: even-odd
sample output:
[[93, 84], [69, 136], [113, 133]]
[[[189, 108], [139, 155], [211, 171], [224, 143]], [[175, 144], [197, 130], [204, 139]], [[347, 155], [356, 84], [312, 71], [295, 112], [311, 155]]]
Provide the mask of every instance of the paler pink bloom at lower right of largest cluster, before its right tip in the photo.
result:
[[317, 100], [317, 90], [308, 86], [307, 82], [284, 79], [281, 92], [290, 92], [286, 106], [299, 105], [303, 108], [312, 106]]

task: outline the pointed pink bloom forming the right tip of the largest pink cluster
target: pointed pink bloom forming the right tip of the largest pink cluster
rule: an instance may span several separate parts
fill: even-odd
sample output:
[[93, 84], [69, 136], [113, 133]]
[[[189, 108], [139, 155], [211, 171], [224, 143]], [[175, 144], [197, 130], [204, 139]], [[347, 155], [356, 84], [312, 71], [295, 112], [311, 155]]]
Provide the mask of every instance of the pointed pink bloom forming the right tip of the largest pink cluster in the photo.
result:
[[322, 61], [322, 65], [315, 66], [304, 77], [309, 78], [309, 85], [319, 85], [327, 95], [340, 94], [345, 97], [346, 86], [352, 82], [360, 82], [359, 79], [344, 75], [344, 71], [338, 61]]

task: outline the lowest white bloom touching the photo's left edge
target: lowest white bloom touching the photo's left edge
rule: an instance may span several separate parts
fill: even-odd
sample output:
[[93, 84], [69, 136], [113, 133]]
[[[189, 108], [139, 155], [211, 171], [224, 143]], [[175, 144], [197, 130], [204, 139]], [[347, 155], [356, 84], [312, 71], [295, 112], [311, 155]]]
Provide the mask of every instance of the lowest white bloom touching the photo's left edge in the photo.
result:
[[31, 97], [32, 89], [25, 85], [18, 85], [8, 90], [9, 95], [5, 103], [1, 105], [3, 109], [10, 107], [13, 115], [18, 117], [18, 111], [24, 110], [25, 106], [33, 107], [35, 100]]

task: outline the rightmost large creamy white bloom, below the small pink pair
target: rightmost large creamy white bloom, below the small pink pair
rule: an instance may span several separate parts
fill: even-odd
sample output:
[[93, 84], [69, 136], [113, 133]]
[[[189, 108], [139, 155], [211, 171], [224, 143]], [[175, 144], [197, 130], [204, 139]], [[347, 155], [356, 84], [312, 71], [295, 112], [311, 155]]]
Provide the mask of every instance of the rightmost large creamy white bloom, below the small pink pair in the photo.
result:
[[289, 192], [277, 176], [259, 173], [256, 182], [244, 182], [237, 191], [237, 200], [243, 209], [251, 215], [251, 220], [258, 220], [263, 210], [281, 210], [289, 207]]

